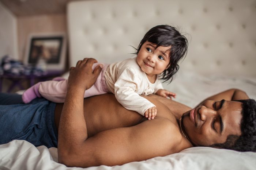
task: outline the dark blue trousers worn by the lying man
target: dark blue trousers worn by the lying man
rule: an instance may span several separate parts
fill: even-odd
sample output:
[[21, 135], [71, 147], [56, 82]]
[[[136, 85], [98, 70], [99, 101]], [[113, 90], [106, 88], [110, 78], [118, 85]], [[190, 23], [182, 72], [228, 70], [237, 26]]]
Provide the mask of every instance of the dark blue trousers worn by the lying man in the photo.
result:
[[0, 93], [0, 144], [26, 140], [35, 146], [57, 147], [55, 106], [45, 98], [24, 104], [19, 94]]

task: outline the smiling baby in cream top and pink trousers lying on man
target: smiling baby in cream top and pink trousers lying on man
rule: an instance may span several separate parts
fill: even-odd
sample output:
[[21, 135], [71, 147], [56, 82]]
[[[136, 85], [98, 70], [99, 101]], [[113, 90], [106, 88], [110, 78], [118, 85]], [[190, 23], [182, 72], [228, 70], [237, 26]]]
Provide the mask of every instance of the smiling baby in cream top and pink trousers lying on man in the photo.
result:
[[[149, 120], [154, 119], [157, 108], [140, 94], [147, 96], [154, 93], [175, 98], [176, 94], [163, 89], [159, 80], [172, 81], [179, 69], [178, 61], [186, 55], [187, 48], [187, 39], [176, 28], [155, 26], [140, 41], [135, 58], [110, 65], [101, 63], [102, 71], [84, 97], [113, 93], [126, 109], [136, 111]], [[94, 63], [93, 69], [99, 64]], [[65, 79], [38, 82], [23, 93], [23, 102], [45, 97], [56, 103], [64, 103], [67, 83]]]

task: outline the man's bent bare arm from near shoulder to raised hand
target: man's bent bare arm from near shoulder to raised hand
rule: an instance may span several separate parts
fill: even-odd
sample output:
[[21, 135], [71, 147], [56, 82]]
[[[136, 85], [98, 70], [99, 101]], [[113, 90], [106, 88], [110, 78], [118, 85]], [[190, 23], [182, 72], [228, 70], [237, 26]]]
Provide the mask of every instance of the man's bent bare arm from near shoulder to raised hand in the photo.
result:
[[177, 143], [181, 141], [181, 134], [170, 120], [162, 117], [132, 127], [103, 131], [88, 138], [83, 92], [93, 84], [91, 82], [97, 75], [90, 70], [93, 62], [92, 59], [80, 61], [75, 69], [71, 69], [59, 124], [59, 163], [79, 167], [113, 166], [179, 152], [181, 148]]

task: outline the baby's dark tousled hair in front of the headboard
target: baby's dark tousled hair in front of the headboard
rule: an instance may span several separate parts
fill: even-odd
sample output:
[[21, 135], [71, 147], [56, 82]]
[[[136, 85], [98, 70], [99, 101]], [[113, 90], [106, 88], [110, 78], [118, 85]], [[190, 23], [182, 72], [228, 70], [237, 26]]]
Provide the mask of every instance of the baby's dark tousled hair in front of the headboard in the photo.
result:
[[187, 38], [181, 35], [175, 27], [169, 25], [155, 26], [144, 35], [135, 54], [138, 55], [140, 48], [146, 41], [157, 45], [156, 48], [159, 46], [171, 46], [169, 67], [163, 71], [161, 79], [164, 80], [164, 82], [168, 80], [169, 83], [172, 82], [174, 74], [177, 73], [179, 69], [178, 61], [183, 57], [185, 58], [187, 55]]

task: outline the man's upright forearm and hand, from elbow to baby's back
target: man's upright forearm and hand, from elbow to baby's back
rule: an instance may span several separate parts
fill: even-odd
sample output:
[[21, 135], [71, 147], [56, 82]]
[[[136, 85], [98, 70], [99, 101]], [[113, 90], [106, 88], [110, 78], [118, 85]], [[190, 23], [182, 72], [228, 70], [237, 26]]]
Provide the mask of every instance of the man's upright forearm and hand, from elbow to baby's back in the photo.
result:
[[84, 59], [78, 61], [76, 67], [70, 68], [67, 95], [58, 132], [58, 159], [61, 163], [65, 163], [69, 153], [77, 151], [77, 146], [80, 146], [88, 137], [83, 114], [83, 96], [85, 90], [94, 84], [101, 71], [99, 66], [94, 72], [92, 71], [92, 65], [95, 62], [95, 59]]

